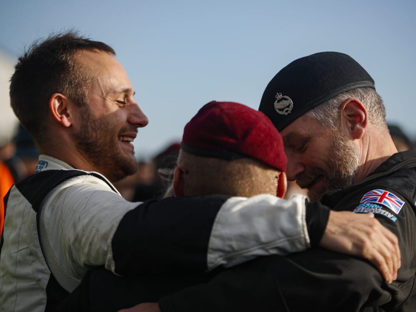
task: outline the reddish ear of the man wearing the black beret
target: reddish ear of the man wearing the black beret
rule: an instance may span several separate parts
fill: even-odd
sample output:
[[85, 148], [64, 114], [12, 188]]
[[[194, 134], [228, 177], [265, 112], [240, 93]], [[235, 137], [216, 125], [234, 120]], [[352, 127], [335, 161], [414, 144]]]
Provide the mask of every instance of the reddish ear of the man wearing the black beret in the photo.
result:
[[352, 139], [361, 139], [367, 126], [367, 110], [359, 99], [349, 97], [339, 111], [339, 129]]

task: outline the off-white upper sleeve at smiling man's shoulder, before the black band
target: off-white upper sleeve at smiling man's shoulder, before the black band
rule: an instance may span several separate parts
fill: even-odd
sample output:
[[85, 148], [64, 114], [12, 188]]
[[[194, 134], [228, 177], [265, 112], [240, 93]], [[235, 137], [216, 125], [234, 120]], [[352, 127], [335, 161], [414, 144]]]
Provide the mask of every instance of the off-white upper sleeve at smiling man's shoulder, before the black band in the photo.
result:
[[[81, 280], [91, 267], [114, 272], [111, 241], [120, 220], [140, 203], [130, 203], [98, 178], [62, 183], [42, 205], [42, 246], [56, 275]], [[60, 273], [59, 273], [59, 272]]]

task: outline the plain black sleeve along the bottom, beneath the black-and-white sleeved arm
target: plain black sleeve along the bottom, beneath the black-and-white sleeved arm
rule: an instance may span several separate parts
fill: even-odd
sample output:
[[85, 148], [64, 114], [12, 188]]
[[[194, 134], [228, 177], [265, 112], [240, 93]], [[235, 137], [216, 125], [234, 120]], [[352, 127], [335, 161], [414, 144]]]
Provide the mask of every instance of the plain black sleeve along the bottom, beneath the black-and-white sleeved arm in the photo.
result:
[[315, 248], [268, 256], [226, 270], [210, 282], [162, 297], [162, 312], [359, 311], [391, 300], [369, 263]]

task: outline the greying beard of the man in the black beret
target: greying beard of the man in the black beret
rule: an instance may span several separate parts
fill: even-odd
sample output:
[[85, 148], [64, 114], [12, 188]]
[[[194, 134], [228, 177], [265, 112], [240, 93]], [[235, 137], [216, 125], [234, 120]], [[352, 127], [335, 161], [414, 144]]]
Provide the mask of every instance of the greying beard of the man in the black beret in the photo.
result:
[[307, 192], [311, 201], [319, 201], [324, 193], [347, 188], [354, 183], [355, 175], [360, 166], [357, 148], [342, 133], [333, 131], [332, 150], [327, 159], [327, 170], [314, 169], [309, 175], [322, 174], [325, 177], [324, 188]]

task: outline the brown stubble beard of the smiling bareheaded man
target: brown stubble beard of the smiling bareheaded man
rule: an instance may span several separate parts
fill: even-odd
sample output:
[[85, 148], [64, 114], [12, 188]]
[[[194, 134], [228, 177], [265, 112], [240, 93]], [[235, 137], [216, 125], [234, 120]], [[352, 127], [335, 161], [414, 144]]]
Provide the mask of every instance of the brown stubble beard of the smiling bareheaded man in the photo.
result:
[[[128, 130], [121, 129], [122, 132]], [[132, 129], [129, 129], [131, 132]], [[134, 130], [136, 132], [136, 128]], [[138, 163], [134, 156], [127, 157], [119, 149], [120, 130], [109, 122], [100, 122], [85, 109], [84, 126], [73, 134], [78, 151], [111, 182], [136, 173]], [[116, 141], [115, 141], [116, 140]]]

